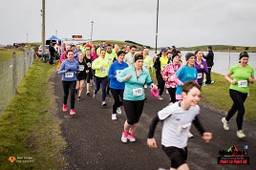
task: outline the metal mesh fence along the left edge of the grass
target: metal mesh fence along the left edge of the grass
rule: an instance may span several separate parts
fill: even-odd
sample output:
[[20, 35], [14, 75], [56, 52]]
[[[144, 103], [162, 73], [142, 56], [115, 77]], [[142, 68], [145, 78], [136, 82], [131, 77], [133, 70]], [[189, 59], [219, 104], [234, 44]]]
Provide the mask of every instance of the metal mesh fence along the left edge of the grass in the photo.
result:
[[33, 62], [33, 51], [12, 54], [12, 58], [0, 63], [0, 116], [5, 112], [16, 89]]

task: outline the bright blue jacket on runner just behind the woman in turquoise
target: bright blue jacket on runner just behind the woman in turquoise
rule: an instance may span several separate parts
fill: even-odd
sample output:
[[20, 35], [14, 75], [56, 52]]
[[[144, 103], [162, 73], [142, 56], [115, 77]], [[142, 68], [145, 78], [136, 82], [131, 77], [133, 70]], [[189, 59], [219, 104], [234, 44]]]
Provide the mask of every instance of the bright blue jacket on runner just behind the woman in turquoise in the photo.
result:
[[124, 90], [124, 82], [118, 82], [116, 75], [120, 74], [123, 69], [127, 68], [128, 64], [125, 62], [119, 63], [115, 61], [109, 68], [108, 77], [110, 78], [110, 88]]

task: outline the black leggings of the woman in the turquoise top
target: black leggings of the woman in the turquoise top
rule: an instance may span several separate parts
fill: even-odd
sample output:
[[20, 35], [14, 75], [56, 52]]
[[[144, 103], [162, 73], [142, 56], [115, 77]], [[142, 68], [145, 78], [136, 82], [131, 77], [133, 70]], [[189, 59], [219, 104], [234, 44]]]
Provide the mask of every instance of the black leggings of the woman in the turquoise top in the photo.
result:
[[144, 100], [131, 101], [124, 99], [123, 107], [127, 117], [127, 123], [133, 125], [139, 122], [139, 117], [141, 116], [144, 107]]

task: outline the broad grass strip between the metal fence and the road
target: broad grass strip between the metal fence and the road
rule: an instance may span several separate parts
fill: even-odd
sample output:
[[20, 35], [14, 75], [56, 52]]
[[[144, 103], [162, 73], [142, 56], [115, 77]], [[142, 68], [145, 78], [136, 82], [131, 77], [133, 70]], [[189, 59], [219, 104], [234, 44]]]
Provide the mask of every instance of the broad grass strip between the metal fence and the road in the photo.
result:
[[[57, 169], [64, 166], [60, 120], [55, 116], [53, 82], [55, 66], [35, 59], [21, 81], [11, 105], [0, 117], [0, 169]], [[33, 162], [9, 157], [31, 157]]]

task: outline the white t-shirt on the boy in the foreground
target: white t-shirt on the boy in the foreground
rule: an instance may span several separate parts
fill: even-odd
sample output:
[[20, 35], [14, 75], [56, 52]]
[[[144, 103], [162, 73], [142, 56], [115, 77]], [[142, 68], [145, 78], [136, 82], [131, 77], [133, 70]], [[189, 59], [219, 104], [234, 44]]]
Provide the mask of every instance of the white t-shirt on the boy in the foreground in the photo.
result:
[[193, 119], [199, 115], [198, 105], [183, 110], [180, 102], [163, 108], [158, 116], [163, 121], [161, 132], [161, 144], [165, 147], [175, 146], [184, 148], [187, 146], [187, 133], [191, 127]]

